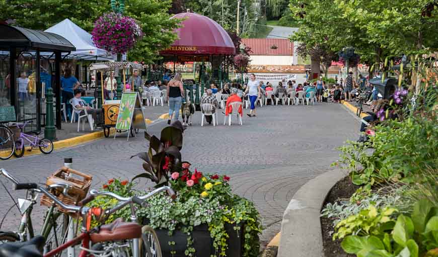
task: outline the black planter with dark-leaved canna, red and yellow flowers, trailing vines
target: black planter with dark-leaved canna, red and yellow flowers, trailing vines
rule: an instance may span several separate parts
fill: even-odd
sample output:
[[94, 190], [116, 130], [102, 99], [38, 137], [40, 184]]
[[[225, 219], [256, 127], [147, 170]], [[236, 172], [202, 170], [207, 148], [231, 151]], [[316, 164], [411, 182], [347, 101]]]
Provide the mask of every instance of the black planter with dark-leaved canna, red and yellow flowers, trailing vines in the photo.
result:
[[261, 225], [254, 204], [232, 193], [228, 176], [193, 171], [181, 160], [183, 130], [176, 121], [160, 139], [145, 133], [148, 152], [136, 155], [144, 173], [133, 180], [169, 185], [177, 198], [157, 195], [138, 215], [156, 229], [164, 256], [258, 256]]

